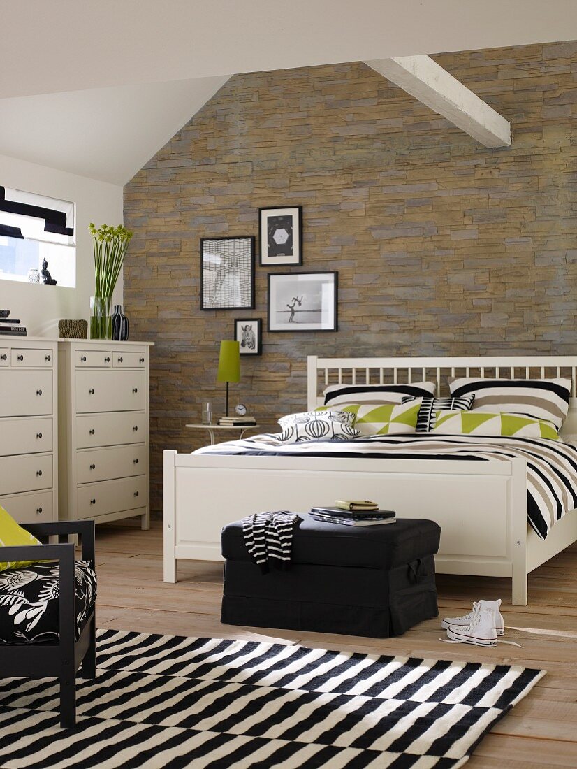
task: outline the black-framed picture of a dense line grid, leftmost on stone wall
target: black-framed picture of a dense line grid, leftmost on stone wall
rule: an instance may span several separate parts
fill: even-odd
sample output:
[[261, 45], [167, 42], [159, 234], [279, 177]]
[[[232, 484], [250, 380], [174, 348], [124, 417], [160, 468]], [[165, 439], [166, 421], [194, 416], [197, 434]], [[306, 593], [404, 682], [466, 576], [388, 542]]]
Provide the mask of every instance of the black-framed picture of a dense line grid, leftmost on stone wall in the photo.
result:
[[201, 238], [201, 310], [254, 308], [254, 236]]

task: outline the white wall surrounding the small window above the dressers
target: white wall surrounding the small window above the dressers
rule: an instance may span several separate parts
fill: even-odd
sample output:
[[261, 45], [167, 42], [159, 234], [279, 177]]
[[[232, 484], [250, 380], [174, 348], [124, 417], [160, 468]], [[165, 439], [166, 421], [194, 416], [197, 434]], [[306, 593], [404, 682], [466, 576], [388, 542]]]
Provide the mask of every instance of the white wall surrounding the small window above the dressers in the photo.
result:
[[[88, 321], [95, 289], [88, 223], [121, 224], [122, 187], [5, 155], [0, 155], [0, 185], [76, 203], [76, 288], [0, 280], [0, 308], [12, 310], [11, 315], [28, 328], [28, 336], [57, 337], [61, 318]], [[118, 278], [114, 298], [122, 301], [122, 278]]]

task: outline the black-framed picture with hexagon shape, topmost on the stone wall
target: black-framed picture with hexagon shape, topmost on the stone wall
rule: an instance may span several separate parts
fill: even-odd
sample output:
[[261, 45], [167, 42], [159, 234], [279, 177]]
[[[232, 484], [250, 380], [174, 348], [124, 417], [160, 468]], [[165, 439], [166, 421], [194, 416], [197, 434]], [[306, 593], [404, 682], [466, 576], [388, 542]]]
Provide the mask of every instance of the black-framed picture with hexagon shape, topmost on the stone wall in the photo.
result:
[[259, 208], [260, 266], [303, 264], [303, 207]]

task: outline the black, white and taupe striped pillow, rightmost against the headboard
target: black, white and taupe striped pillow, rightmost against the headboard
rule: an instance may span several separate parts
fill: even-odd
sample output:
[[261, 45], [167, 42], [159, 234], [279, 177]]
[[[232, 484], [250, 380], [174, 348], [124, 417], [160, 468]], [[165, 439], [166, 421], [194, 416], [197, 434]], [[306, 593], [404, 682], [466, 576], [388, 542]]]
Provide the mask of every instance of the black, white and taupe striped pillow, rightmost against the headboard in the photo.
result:
[[506, 411], [546, 419], [560, 428], [569, 411], [570, 379], [449, 377], [453, 398], [475, 395], [473, 411]]

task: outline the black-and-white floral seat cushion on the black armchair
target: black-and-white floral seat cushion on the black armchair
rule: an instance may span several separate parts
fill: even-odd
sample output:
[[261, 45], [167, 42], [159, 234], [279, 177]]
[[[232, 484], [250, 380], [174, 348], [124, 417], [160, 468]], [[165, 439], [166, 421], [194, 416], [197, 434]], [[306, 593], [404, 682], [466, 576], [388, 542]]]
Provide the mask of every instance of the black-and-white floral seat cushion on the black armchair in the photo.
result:
[[[96, 573], [76, 561], [76, 638], [96, 600]], [[60, 566], [45, 561], [0, 572], [0, 644], [58, 641]]]

